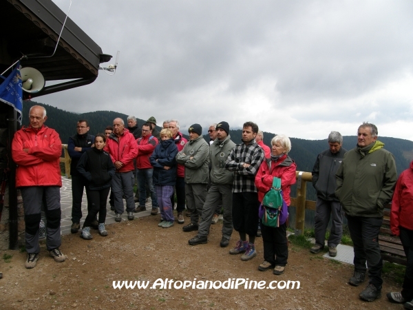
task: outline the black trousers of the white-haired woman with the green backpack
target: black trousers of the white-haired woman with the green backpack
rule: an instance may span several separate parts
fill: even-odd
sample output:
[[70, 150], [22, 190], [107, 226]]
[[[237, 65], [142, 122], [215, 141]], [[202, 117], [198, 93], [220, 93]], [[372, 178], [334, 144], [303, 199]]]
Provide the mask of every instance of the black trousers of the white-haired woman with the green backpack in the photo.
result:
[[271, 262], [272, 265], [285, 266], [288, 259], [287, 224], [275, 228], [260, 223], [260, 227], [264, 260]]

